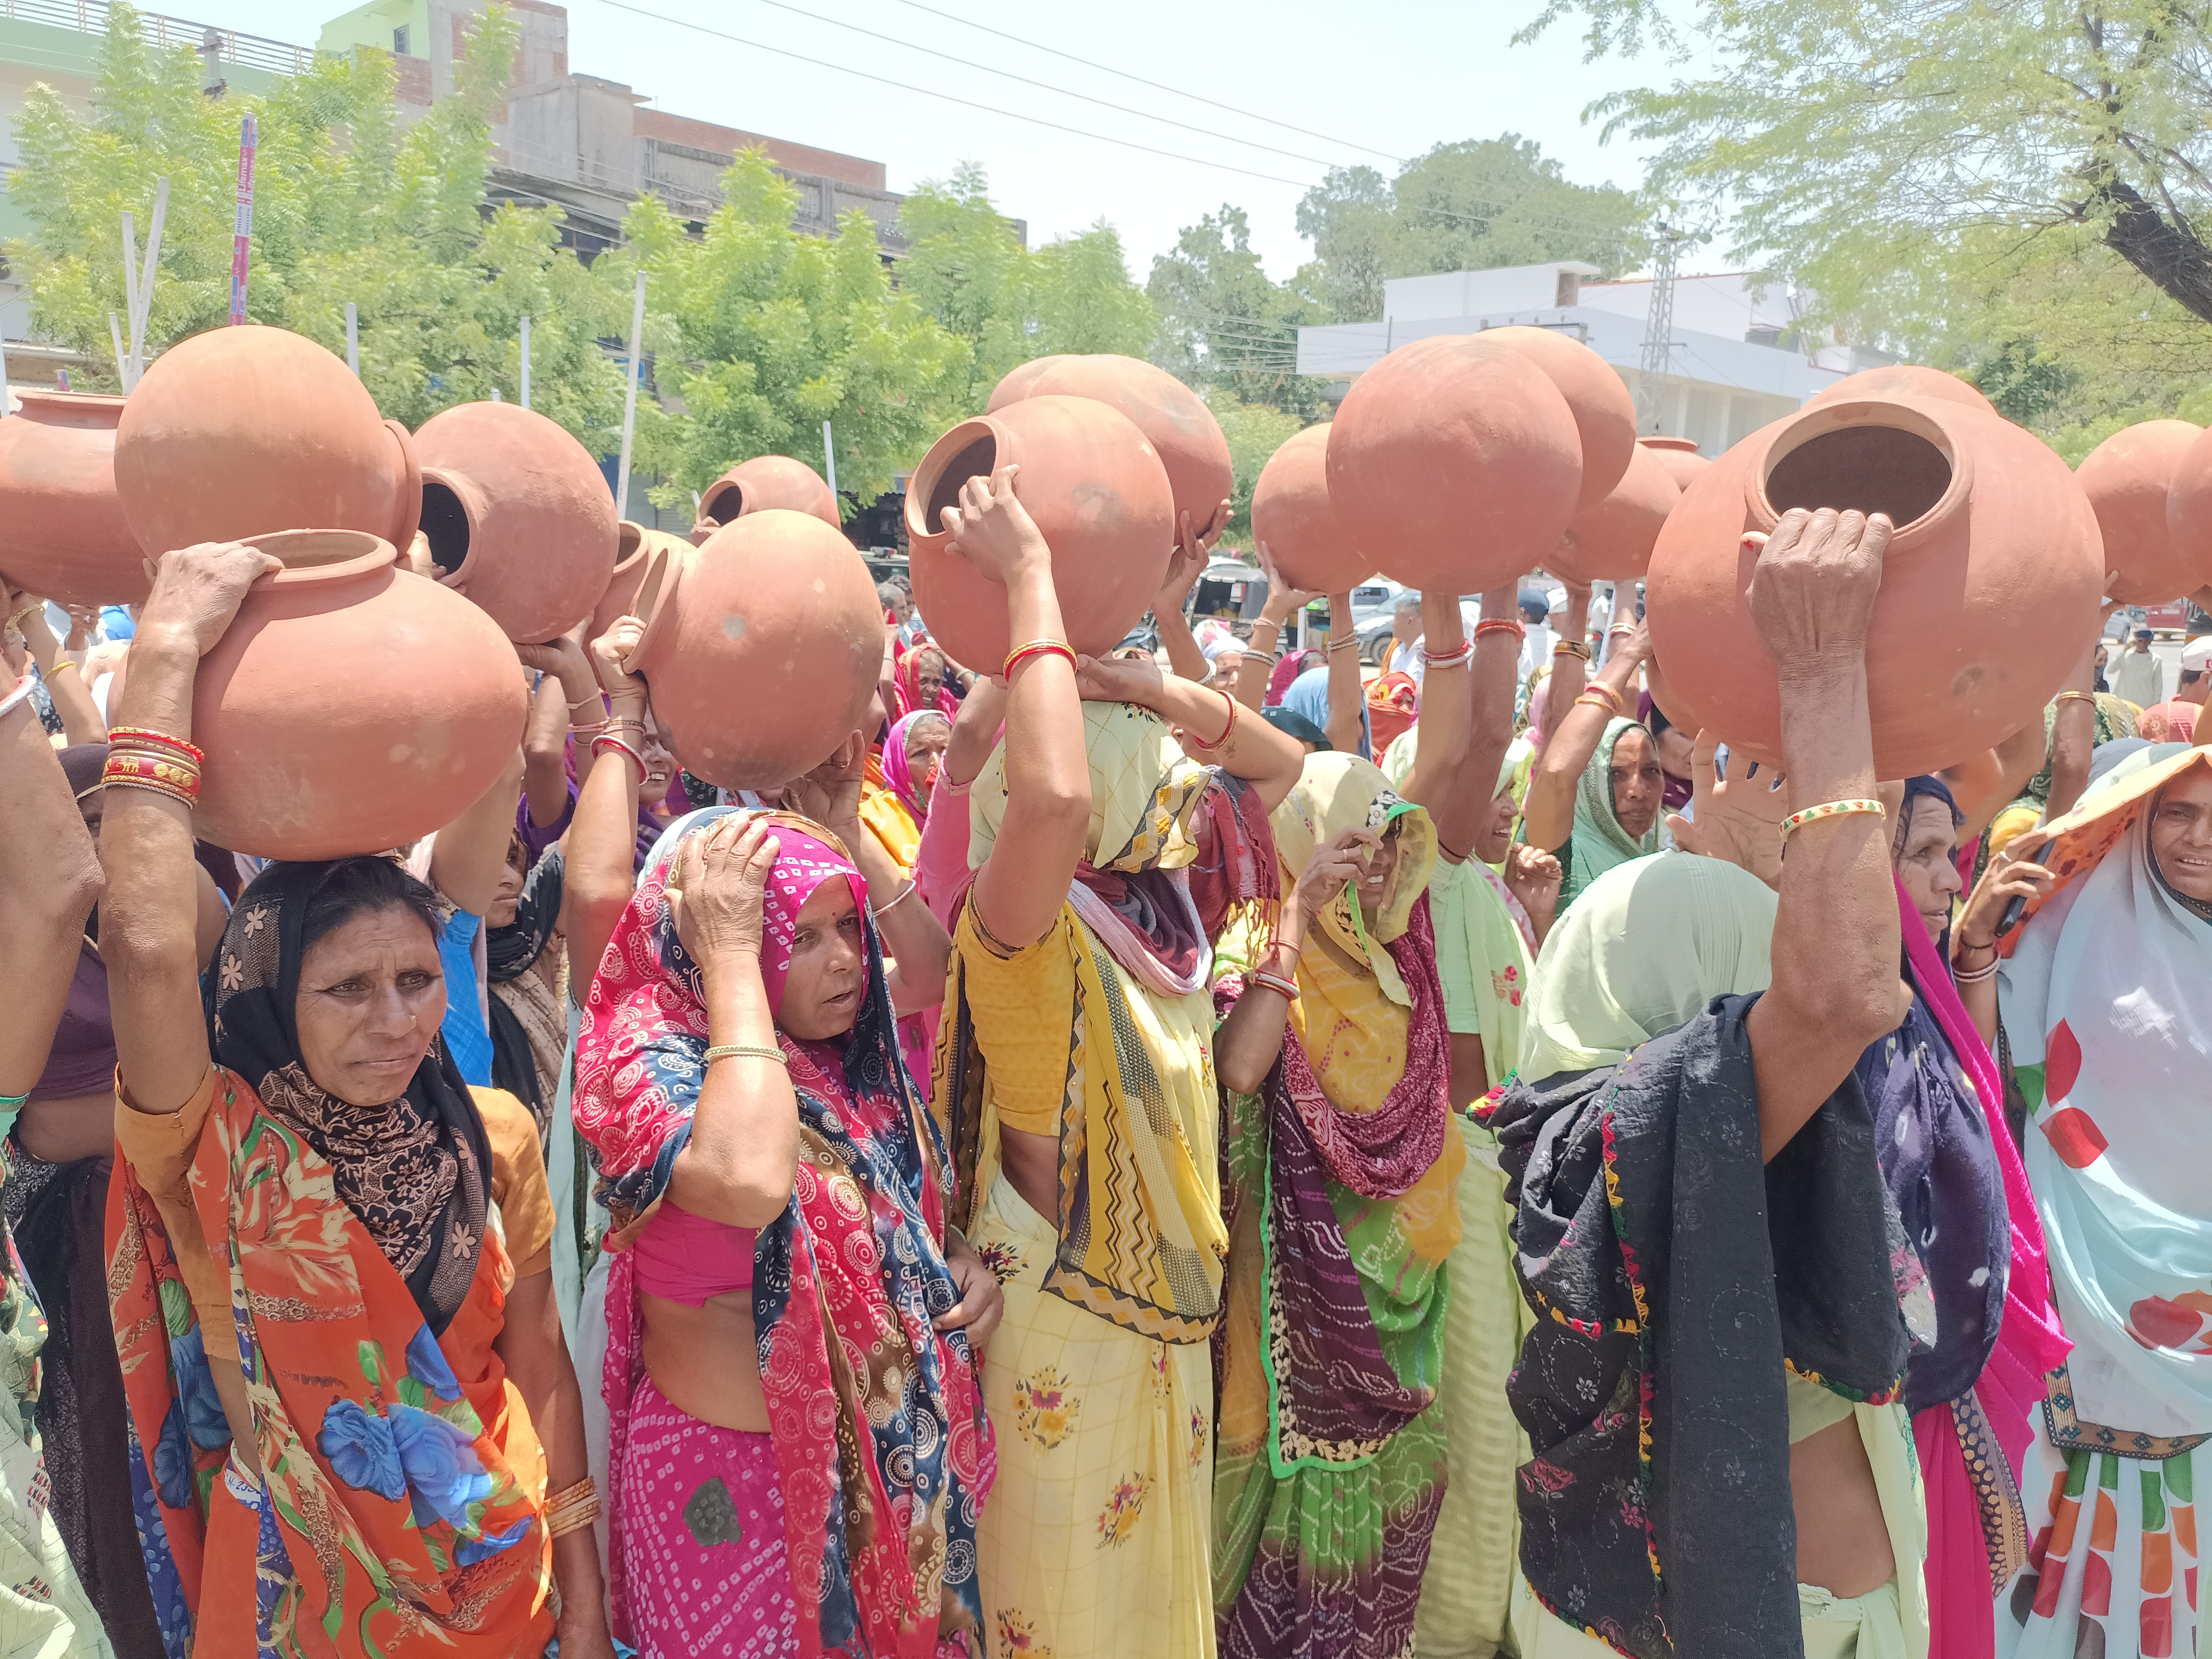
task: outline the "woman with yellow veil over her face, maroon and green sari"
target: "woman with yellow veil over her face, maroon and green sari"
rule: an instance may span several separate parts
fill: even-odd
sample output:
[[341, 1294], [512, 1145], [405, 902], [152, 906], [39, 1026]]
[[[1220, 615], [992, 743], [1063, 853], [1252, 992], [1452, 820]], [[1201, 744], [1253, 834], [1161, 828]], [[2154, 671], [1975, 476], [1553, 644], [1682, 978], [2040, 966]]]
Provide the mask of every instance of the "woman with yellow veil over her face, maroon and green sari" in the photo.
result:
[[1230, 1655], [1389, 1659], [1411, 1648], [1444, 1495], [1436, 1391], [1467, 1164], [1436, 827], [1352, 754], [1307, 757], [1270, 821], [1296, 887], [1217, 1037], [1232, 1119], [1214, 1610]]

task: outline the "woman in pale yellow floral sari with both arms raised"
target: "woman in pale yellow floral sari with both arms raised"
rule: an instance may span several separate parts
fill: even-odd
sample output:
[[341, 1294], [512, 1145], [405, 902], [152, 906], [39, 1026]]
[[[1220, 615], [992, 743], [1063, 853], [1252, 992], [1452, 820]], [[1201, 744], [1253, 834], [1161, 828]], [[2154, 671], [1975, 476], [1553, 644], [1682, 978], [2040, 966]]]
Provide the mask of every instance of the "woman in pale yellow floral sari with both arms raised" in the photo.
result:
[[1298, 750], [1148, 661], [1077, 661], [1009, 469], [945, 522], [1026, 646], [969, 787], [931, 1088], [958, 1221], [1006, 1287], [984, 1606], [998, 1652], [1210, 1655], [1212, 945], [1276, 891], [1263, 825]]

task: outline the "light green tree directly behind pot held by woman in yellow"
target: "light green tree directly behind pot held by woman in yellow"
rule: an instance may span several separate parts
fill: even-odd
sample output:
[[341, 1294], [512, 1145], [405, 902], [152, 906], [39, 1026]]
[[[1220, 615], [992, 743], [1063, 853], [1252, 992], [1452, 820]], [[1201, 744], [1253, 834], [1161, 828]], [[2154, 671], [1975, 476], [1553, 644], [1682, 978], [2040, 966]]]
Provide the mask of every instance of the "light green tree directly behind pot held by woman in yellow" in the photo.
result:
[[898, 285], [973, 354], [962, 409], [982, 409], [1006, 369], [1053, 352], [1144, 356], [1159, 327], [1130, 281], [1121, 239], [1099, 221], [1029, 250], [991, 204], [984, 170], [962, 161], [898, 210]]

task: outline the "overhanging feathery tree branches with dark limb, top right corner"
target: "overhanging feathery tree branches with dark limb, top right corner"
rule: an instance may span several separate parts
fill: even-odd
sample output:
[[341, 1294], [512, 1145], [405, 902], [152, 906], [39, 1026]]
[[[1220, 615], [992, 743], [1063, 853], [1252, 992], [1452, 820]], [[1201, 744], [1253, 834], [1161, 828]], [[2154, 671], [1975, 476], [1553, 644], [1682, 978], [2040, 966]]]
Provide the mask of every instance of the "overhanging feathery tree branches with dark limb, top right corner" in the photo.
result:
[[[1683, 9], [1548, 0], [1590, 55], [1674, 49]], [[1712, 69], [1601, 100], [1652, 188], [1816, 294], [1807, 321], [1960, 367], [2062, 451], [2212, 372], [2212, 38], [2097, 7], [1701, 0]]]

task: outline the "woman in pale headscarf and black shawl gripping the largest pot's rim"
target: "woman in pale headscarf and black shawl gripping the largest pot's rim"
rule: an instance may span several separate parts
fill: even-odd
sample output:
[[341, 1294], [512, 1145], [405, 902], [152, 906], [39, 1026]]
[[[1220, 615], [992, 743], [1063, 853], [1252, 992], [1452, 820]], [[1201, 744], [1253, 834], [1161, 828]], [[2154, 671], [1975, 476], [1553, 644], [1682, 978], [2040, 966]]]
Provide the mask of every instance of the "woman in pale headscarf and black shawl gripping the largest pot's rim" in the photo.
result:
[[1907, 1004], [1865, 690], [1887, 544], [1798, 509], [1759, 553], [1752, 619], [1796, 668], [1781, 896], [1624, 860], [1537, 960], [1489, 1113], [1535, 1316], [1524, 1659], [1929, 1655], [1898, 1221], [1851, 1075]]

